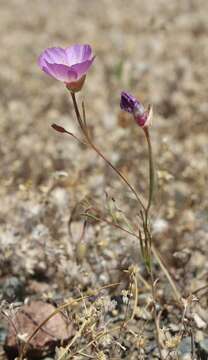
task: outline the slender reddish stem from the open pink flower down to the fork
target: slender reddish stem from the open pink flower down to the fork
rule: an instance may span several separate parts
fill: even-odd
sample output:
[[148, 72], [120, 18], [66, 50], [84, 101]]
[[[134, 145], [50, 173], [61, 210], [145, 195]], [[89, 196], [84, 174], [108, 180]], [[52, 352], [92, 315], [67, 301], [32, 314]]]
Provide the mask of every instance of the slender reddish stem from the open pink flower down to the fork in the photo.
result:
[[141, 201], [139, 195], [137, 194], [136, 190], [133, 188], [133, 186], [129, 183], [129, 181], [125, 178], [125, 176], [105, 157], [105, 155], [103, 155], [103, 153], [92, 142], [92, 139], [90, 138], [89, 133], [84, 126], [86, 121], [83, 122], [82, 117], [80, 115], [80, 111], [79, 111], [79, 107], [77, 105], [75, 93], [71, 92], [71, 96], [72, 96], [72, 101], [73, 101], [77, 121], [78, 121], [80, 128], [83, 131], [89, 145], [105, 161], [105, 163], [108, 164], [108, 166], [111, 167], [111, 169], [113, 169], [115, 171], [115, 173], [125, 182], [125, 184], [131, 190], [131, 192], [135, 195], [135, 197], [136, 197], [138, 203], [140, 204], [140, 206], [142, 207], [142, 209], [145, 211], [145, 206], [144, 206], [143, 202]]

